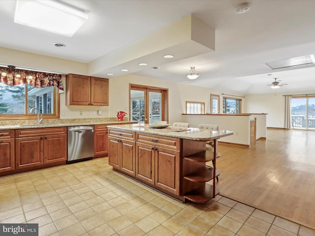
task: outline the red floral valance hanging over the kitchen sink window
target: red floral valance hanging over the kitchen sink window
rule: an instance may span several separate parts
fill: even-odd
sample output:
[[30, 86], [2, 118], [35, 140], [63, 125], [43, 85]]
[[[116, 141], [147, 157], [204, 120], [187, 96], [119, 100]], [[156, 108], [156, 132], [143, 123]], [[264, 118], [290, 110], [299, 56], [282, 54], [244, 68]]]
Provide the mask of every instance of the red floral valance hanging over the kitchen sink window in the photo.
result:
[[0, 67], [0, 76], [0, 82], [6, 85], [29, 84], [36, 88], [56, 86], [59, 92], [63, 92], [61, 74]]

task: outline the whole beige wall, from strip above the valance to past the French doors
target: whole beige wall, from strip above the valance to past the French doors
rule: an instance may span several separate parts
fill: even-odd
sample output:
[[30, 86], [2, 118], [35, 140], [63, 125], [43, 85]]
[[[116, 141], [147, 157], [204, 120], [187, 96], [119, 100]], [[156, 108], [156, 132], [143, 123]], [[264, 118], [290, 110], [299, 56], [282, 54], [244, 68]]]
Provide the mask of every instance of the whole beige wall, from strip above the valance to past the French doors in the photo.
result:
[[[65, 85], [65, 75], [68, 73], [89, 75], [88, 64], [43, 56], [18, 50], [0, 47], [0, 64], [11, 64], [30, 69], [59, 72], [63, 74], [63, 84]], [[183, 74], [183, 76], [185, 76]], [[167, 88], [169, 94], [169, 123], [182, 121], [182, 113], [186, 113], [186, 101], [205, 102], [206, 112], [210, 111], [210, 94], [220, 95], [220, 111], [222, 112], [221, 93], [228, 91], [218, 91], [203, 87], [191, 86], [189, 84], [172, 83], [153, 78], [126, 75], [109, 80], [109, 106], [66, 106], [65, 91], [60, 96], [61, 118], [107, 118], [116, 117], [117, 111], [129, 113], [129, 84], [138, 84], [154, 87]], [[233, 94], [240, 95], [240, 94]], [[98, 116], [97, 111], [102, 110], [102, 115]], [[80, 111], [83, 115], [80, 116]], [[87, 113], [88, 112], [88, 113]], [[262, 111], [260, 111], [262, 112]]]

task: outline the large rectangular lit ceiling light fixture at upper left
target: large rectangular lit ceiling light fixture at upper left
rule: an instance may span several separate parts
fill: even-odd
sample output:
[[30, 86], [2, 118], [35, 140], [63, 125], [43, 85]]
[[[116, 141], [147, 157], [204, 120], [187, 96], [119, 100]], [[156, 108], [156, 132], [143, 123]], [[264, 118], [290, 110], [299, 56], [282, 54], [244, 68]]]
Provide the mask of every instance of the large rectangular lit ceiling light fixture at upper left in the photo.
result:
[[87, 20], [83, 10], [56, 0], [17, 0], [14, 22], [71, 37]]

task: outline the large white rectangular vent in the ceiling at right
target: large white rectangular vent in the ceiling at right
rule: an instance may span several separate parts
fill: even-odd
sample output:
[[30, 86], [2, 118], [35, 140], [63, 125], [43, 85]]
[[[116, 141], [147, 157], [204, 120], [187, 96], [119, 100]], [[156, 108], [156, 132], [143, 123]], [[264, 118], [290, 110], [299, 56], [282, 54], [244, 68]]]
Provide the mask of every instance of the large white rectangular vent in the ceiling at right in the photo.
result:
[[308, 65], [308, 64], [314, 64], [314, 63], [315, 63], [314, 55], [308, 55], [308, 56], [303, 56], [303, 57], [298, 57], [298, 58], [271, 61], [271, 62], [267, 62], [266, 65], [274, 70], [274, 69], [299, 66], [299, 65]]

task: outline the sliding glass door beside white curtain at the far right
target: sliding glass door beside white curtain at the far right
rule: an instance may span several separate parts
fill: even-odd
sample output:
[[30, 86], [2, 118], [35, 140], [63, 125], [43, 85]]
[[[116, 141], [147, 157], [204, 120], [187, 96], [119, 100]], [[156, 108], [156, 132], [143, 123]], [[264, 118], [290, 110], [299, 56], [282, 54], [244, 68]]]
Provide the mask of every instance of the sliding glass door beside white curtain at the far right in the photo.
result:
[[315, 130], [315, 96], [291, 97], [292, 128]]

